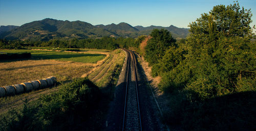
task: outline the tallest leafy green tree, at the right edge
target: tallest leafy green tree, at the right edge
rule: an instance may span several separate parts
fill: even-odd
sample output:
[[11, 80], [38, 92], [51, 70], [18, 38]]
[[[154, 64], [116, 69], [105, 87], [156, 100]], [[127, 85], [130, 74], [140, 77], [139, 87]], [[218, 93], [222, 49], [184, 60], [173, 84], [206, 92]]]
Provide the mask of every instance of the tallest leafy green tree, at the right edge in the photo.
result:
[[212, 95], [254, 89], [251, 16], [238, 3], [218, 5], [189, 24], [186, 60], [196, 81], [188, 87], [207, 86]]

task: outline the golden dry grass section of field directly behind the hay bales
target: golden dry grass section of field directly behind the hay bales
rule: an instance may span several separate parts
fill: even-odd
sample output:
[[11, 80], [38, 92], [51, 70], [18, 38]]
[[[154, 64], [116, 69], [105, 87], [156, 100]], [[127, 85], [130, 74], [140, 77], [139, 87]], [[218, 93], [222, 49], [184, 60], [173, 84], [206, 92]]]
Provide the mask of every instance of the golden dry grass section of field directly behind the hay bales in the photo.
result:
[[18, 84], [56, 76], [58, 81], [71, 80], [90, 71], [93, 64], [56, 60], [23, 60], [0, 63], [0, 86]]

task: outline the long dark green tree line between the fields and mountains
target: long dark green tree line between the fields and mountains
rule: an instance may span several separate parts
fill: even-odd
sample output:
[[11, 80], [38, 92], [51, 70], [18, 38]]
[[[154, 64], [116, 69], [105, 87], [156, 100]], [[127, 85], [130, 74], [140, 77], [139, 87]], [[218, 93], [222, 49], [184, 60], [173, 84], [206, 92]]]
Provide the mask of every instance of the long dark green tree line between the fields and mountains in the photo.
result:
[[[51, 39], [49, 41], [30, 41], [30, 40], [6, 40], [0, 39], [0, 49], [26, 49], [28, 47], [53, 47], [53, 48], [88, 48], [88, 49], [107, 49], [138, 47], [138, 38], [113, 38], [102, 37], [99, 39]], [[137, 42], [136, 42], [137, 41]]]

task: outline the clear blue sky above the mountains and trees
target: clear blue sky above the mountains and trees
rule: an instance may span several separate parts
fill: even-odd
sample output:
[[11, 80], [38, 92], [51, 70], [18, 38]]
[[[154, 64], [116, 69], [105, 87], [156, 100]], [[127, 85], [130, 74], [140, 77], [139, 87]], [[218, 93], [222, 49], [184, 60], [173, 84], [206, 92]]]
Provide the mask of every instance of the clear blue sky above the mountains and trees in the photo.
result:
[[[256, 25], [256, 1], [240, 0], [240, 6], [251, 9]], [[20, 26], [44, 18], [80, 20], [92, 25], [129, 23], [132, 26], [170, 26], [187, 28], [202, 13], [216, 5], [230, 5], [228, 0], [123, 0], [123, 1], [54, 1], [0, 0], [0, 25]]]

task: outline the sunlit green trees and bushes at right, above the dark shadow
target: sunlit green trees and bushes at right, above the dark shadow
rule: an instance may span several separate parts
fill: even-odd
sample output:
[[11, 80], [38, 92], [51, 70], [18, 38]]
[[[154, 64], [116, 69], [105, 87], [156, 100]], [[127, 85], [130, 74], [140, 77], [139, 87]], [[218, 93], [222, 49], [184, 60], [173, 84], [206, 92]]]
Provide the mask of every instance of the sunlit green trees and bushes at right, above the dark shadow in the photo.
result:
[[200, 99], [255, 90], [251, 16], [250, 10], [234, 3], [215, 6], [190, 23], [186, 43], [157, 57], [161, 60], [152, 71], [162, 74], [160, 87], [192, 90]]

